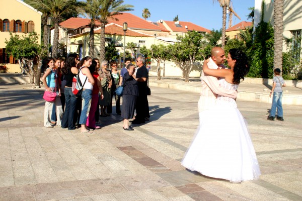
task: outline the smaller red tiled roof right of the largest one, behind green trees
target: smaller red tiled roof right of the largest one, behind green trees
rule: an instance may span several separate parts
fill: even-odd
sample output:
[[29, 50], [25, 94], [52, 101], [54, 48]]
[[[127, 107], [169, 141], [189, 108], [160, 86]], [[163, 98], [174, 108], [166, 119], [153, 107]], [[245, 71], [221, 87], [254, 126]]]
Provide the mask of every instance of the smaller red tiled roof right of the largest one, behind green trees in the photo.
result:
[[[183, 22], [183, 21], [178, 21], [179, 25], [178, 27], [176, 26], [176, 22], [174, 21], [164, 21], [167, 26], [173, 31], [173, 32], [188, 32], [188, 31], [197, 31], [197, 32], [207, 32], [210, 33], [211, 31], [200, 27], [198, 25], [195, 25], [191, 22]], [[159, 22], [160, 23], [160, 22]], [[186, 29], [187, 26], [187, 29]]]

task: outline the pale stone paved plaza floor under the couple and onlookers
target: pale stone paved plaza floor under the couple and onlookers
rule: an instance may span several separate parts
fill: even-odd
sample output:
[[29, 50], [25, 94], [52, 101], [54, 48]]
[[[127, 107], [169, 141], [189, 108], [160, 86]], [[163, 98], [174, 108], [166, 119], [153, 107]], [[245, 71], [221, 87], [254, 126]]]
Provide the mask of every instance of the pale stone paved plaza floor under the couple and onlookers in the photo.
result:
[[0, 200], [302, 200], [301, 106], [272, 122], [270, 104], [237, 100], [262, 175], [233, 184], [180, 164], [198, 126], [196, 92], [152, 87], [149, 122], [124, 131], [113, 114], [93, 134], [43, 127], [42, 95], [0, 85]]

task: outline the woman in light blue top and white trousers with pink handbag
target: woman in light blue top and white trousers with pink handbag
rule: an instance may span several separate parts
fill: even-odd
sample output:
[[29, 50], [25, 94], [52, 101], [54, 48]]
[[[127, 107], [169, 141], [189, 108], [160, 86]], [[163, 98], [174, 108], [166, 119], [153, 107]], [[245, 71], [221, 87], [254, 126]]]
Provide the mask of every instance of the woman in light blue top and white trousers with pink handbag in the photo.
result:
[[44, 109], [44, 127], [52, 128], [53, 125], [51, 124], [50, 119], [51, 119], [53, 104], [55, 105], [56, 108], [56, 116], [57, 116], [56, 125], [58, 126], [61, 126], [63, 110], [62, 110], [62, 104], [60, 98], [57, 97], [54, 99], [54, 101], [51, 101], [52, 99], [50, 99], [49, 96], [51, 96], [52, 92], [55, 93], [57, 96], [60, 96], [61, 89], [58, 84], [57, 71], [54, 68], [54, 59], [52, 57], [47, 57], [44, 60], [44, 62], [47, 67], [42, 77], [43, 84], [45, 85], [45, 92], [43, 98], [46, 100], [45, 109]]

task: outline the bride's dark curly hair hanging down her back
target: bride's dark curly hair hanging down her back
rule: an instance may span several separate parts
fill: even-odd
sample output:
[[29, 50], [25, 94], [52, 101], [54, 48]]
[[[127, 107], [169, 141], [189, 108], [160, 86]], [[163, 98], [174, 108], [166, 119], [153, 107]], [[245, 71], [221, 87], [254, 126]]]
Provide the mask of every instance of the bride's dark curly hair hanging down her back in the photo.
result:
[[234, 84], [239, 84], [241, 79], [242, 81], [244, 80], [244, 76], [248, 74], [250, 70], [249, 62], [248, 62], [248, 57], [247, 55], [242, 52], [239, 49], [230, 49], [229, 51], [231, 58], [233, 60], [236, 60], [235, 66], [234, 66], [234, 78], [233, 78], [233, 83]]

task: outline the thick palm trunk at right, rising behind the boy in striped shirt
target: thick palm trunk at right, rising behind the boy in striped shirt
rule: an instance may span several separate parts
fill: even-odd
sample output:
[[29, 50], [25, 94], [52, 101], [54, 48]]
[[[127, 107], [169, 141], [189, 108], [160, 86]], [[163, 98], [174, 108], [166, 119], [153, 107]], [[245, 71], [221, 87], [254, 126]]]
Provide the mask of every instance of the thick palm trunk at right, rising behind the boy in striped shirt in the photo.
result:
[[282, 72], [283, 0], [274, 0], [274, 69]]

